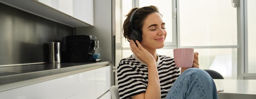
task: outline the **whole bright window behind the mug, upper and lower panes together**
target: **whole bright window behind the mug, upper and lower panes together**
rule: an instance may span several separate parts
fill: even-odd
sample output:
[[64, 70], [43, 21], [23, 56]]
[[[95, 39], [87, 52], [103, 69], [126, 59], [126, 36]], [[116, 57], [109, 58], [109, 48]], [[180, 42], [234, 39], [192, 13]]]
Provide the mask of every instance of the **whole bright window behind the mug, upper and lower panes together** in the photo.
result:
[[195, 48], [200, 68], [236, 79], [236, 12], [230, 0], [179, 0], [178, 48]]

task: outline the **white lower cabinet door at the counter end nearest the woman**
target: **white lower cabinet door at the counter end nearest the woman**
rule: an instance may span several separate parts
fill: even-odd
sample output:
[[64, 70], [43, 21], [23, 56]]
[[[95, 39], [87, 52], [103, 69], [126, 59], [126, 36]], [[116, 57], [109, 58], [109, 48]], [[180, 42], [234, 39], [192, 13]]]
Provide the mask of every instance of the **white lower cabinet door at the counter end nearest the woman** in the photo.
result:
[[110, 89], [110, 66], [96, 69], [96, 96], [99, 98]]

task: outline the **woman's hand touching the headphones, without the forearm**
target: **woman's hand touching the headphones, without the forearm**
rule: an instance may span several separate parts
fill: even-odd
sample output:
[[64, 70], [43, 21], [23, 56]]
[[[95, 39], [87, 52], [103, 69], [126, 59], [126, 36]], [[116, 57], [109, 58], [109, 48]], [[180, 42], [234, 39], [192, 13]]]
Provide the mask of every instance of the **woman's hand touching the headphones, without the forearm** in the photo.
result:
[[155, 64], [155, 58], [145, 48], [141, 46], [139, 41], [136, 40], [136, 43], [138, 46], [136, 46], [133, 40], [130, 40], [130, 48], [132, 50], [132, 53], [134, 53], [142, 62], [144, 62], [148, 66], [150, 64]]

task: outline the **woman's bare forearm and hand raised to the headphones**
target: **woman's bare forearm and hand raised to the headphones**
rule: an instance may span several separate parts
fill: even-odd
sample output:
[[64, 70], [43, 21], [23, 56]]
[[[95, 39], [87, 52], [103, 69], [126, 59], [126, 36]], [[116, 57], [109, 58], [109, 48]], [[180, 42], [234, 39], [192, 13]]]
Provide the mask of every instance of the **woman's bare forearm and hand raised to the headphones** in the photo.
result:
[[155, 58], [138, 41], [136, 43], [138, 46], [130, 40], [130, 47], [132, 52], [148, 66], [148, 86], [146, 93], [135, 95], [132, 99], [160, 99], [161, 88]]

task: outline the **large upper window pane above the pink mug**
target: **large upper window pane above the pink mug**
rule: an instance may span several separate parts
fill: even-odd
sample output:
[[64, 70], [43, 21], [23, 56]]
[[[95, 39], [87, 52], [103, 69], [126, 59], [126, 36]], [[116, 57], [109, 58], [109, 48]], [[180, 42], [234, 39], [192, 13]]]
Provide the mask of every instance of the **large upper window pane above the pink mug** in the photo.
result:
[[230, 0], [179, 0], [180, 46], [237, 45], [237, 9]]

